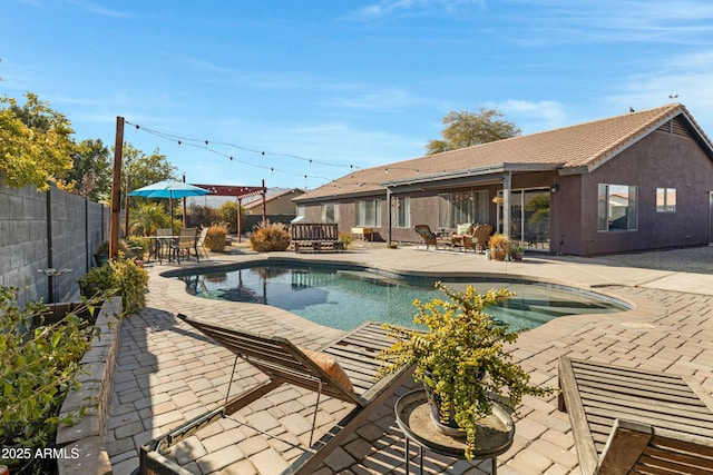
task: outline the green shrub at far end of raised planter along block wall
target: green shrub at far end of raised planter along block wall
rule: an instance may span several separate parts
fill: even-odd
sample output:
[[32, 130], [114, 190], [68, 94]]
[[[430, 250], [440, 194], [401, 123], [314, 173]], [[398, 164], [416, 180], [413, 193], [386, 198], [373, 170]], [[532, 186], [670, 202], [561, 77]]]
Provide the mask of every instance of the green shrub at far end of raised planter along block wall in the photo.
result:
[[137, 314], [146, 305], [148, 273], [133, 259], [111, 259], [101, 267], [89, 269], [77, 281], [85, 297], [120, 295], [125, 314]]

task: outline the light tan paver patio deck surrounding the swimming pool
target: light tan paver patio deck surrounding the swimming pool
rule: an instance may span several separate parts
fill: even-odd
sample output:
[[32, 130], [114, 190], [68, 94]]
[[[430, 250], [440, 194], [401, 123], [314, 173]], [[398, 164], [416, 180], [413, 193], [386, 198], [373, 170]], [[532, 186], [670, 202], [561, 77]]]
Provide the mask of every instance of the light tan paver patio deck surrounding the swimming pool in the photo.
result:
[[[525, 278], [590, 288], [632, 303], [631, 311], [557, 318], [524, 334], [515, 357], [533, 382], [557, 385], [557, 358], [570, 355], [632, 367], [694, 376], [713, 393], [713, 275], [683, 274], [602, 265], [597, 259], [529, 257], [522, 263], [486, 261], [422, 248], [371, 247], [338, 254], [299, 255], [251, 253], [212, 256], [208, 266], [264, 258], [300, 258], [364, 264], [400, 273], [434, 276], [477, 274]], [[201, 263], [202, 265], [204, 263]], [[194, 264], [195, 265], [195, 264]], [[186, 267], [186, 264], [182, 264]], [[182, 281], [159, 276], [176, 266], [150, 266], [147, 307], [126, 318], [117, 357], [114, 400], [106, 437], [114, 473], [138, 466], [138, 447], [150, 438], [221, 404], [234, 357], [226, 349], [175, 318], [177, 313], [233, 320], [243, 328], [282, 335], [315, 348], [339, 330], [304, 320], [287, 311], [256, 304], [236, 304], [193, 297]], [[238, 364], [232, 394], [264, 376]], [[403, 474], [403, 438], [393, 419], [399, 396], [417, 387], [411, 383], [393, 397], [316, 471], [320, 475]], [[172, 454], [197, 474], [280, 473], [309, 442], [309, 415], [314, 393], [282, 387], [252, 404], [234, 418], [178, 444]], [[323, 400], [318, 417], [321, 435], [349, 409], [341, 402]], [[247, 424], [247, 425], [245, 425]], [[264, 431], [281, 437], [265, 437]], [[417, 465], [411, 455], [411, 471]], [[424, 452], [428, 473], [490, 473], [489, 461], [465, 462]], [[557, 410], [556, 397], [527, 397], [516, 419], [512, 447], [498, 457], [500, 474], [578, 473], [568, 416]]]

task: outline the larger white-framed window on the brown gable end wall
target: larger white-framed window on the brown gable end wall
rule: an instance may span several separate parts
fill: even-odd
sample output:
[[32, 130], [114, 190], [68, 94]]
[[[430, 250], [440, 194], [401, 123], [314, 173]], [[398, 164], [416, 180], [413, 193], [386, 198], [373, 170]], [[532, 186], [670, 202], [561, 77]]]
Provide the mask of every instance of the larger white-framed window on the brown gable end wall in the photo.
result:
[[637, 187], [599, 184], [597, 228], [600, 231], [635, 230], [638, 226]]

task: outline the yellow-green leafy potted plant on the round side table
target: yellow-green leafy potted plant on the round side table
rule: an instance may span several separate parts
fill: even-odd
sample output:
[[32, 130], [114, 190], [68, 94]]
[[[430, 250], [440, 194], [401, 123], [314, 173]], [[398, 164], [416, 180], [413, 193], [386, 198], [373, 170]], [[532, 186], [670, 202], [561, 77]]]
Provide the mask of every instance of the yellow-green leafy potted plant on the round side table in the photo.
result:
[[466, 457], [476, 451], [477, 423], [492, 413], [494, 404], [516, 410], [524, 395], [543, 396], [554, 389], [529, 385], [530, 375], [512, 363], [508, 345], [522, 330], [511, 331], [485, 309], [512, 294], [491, 289], [479, 295], [472, 286], [465, 293], [441, 283], [439, 288], [450, 300], [433, 298], [426, 304], [414, 300], [418, 314], [413, 321], [426, 331], [385, 324], [395, 343], [380, 353], [383, 377], [406, 365], [413, 365], [413, 378], [423, 382], [429, 402], [438, 405], [438, 423], [456, 425], [466, 438]]

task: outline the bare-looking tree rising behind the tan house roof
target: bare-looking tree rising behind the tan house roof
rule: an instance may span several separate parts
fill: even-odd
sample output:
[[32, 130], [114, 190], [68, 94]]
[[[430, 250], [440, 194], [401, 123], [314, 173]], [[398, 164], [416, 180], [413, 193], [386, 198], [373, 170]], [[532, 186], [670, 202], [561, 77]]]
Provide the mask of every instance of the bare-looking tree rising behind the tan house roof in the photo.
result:
[[426, 154], [440, 154], [519, 136], [520, 128], [508, 120], [500, 120], [501, 117], [505, 115], [496, 109], [480, 108], [478, 113], [451, 111], [443, 117], [443, 139], [429, 140]]

